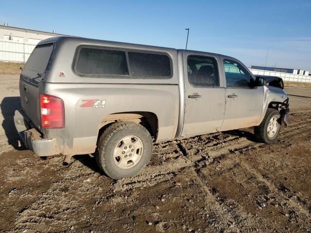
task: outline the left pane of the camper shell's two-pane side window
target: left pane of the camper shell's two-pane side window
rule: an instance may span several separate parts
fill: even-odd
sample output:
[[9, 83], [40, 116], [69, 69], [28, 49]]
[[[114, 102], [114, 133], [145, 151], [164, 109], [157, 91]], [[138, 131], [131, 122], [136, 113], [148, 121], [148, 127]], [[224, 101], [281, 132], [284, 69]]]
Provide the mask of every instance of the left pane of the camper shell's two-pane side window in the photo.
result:
[[128, 75], [125, 51], [81, 48], [75, 71], [82, 75]]

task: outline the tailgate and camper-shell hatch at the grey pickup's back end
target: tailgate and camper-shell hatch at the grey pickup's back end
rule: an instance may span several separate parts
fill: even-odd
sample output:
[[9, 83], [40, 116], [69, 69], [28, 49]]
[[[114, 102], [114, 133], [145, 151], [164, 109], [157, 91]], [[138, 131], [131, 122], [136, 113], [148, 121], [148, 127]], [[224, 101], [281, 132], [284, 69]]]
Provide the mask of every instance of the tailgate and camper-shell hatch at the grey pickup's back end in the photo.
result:
[[20, 74], [19, 93], [23, 112], [40, 128], [40, 82], [50, 61], [54, 43], [37, 45]]

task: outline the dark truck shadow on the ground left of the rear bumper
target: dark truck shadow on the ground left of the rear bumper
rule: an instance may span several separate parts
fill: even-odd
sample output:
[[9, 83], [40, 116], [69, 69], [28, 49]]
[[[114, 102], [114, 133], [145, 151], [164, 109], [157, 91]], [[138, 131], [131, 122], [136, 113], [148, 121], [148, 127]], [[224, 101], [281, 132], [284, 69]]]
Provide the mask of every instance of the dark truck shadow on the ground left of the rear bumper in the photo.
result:
[[25, 150], [24, 146], [18, 147], [19, 135], [14, 124], [15, 110], [20, 109], [20, 97], [4, 97], [1, 104], [1, 115], [3, 116], [2, 128], [7, 142], [16, 150]]

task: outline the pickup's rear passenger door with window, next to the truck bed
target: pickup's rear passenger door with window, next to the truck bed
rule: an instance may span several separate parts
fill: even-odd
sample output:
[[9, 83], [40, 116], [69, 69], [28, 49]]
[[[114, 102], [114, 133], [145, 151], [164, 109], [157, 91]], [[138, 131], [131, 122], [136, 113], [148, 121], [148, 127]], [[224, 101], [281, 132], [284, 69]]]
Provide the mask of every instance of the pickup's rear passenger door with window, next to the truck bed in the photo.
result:
[[183, 51], [185, 119], [182, 136], [219, 131], [225, 88], [218, 54]]

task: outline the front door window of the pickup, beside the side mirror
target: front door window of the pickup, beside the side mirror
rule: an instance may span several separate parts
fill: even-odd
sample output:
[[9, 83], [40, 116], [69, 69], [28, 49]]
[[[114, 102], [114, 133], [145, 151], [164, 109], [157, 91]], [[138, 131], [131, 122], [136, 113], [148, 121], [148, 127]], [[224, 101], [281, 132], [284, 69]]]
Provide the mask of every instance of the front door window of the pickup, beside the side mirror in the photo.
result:
[[231, 87], [249, 87], [251, 75], [239, 63], [233, 60], [224, 59], [225, 80], [227, 86]]

